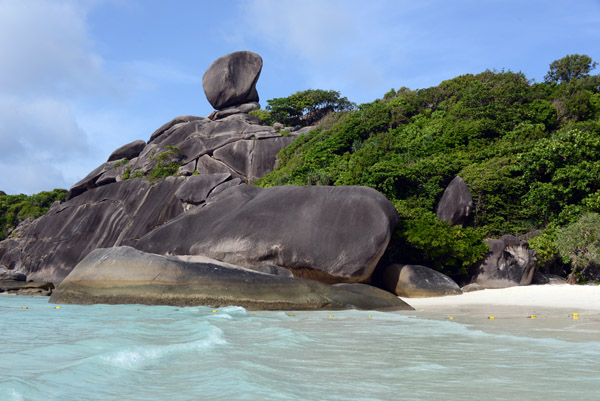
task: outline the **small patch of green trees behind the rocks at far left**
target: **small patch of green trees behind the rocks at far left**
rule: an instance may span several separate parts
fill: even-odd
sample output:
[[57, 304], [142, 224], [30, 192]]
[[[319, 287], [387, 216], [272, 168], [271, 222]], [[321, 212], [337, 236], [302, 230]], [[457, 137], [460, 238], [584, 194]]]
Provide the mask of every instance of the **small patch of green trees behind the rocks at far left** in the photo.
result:
[[67, 191], [55, 189], [35, 195], [6, 195], [0, 191], [0, 240], [24, 220], [35, 219], [48, 211], [56, 201], [64, 201]]

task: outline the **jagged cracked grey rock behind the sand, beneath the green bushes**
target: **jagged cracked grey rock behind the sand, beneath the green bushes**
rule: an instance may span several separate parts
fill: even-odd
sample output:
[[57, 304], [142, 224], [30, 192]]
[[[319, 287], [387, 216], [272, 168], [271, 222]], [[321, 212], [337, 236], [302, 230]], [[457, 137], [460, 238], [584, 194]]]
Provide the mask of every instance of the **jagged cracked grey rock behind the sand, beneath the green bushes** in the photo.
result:
[[527, 241], [504, 235], [499, 240], [487, 240], [486, 244], [490, 252], [476, 267], [474, 283], [484, 288], [531, 284], [537, 258]]

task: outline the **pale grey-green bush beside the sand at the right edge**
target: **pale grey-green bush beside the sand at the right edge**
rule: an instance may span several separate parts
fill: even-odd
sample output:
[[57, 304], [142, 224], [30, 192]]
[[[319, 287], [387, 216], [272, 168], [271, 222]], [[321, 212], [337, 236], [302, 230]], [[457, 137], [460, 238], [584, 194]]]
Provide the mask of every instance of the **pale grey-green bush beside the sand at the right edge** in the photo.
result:
[[600, 215], [584, 213], [574, 223], [560, 229], [556, 238], [558, 252], [565, 263], [571, 263], [567, 279], [575, 284], [585, 272], [600, 264]]

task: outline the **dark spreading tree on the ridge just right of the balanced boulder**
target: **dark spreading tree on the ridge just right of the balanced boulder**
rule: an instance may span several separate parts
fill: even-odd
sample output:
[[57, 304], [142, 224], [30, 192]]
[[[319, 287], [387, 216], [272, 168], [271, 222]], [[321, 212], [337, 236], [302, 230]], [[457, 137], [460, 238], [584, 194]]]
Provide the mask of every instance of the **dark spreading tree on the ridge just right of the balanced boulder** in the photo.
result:
[[334, 90], [308, 89], [291, 96], [267, 100], [273, 122], [285, 125], [313, 125], [332, 111], [352, 110], [356, 105]]

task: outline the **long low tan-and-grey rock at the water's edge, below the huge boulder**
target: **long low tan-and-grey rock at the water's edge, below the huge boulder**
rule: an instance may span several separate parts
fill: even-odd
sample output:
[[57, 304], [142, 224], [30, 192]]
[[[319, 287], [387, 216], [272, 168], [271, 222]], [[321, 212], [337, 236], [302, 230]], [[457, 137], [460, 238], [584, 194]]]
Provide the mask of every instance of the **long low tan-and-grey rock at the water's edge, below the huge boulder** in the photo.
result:
[[239, 305], [253, 310], [412, 309], [385, 291], [366, 296], [359, 291], [259, 273], [208, 258], [184, 261], [130, 247], [91, 252], [57, 287], [50, 302]]

